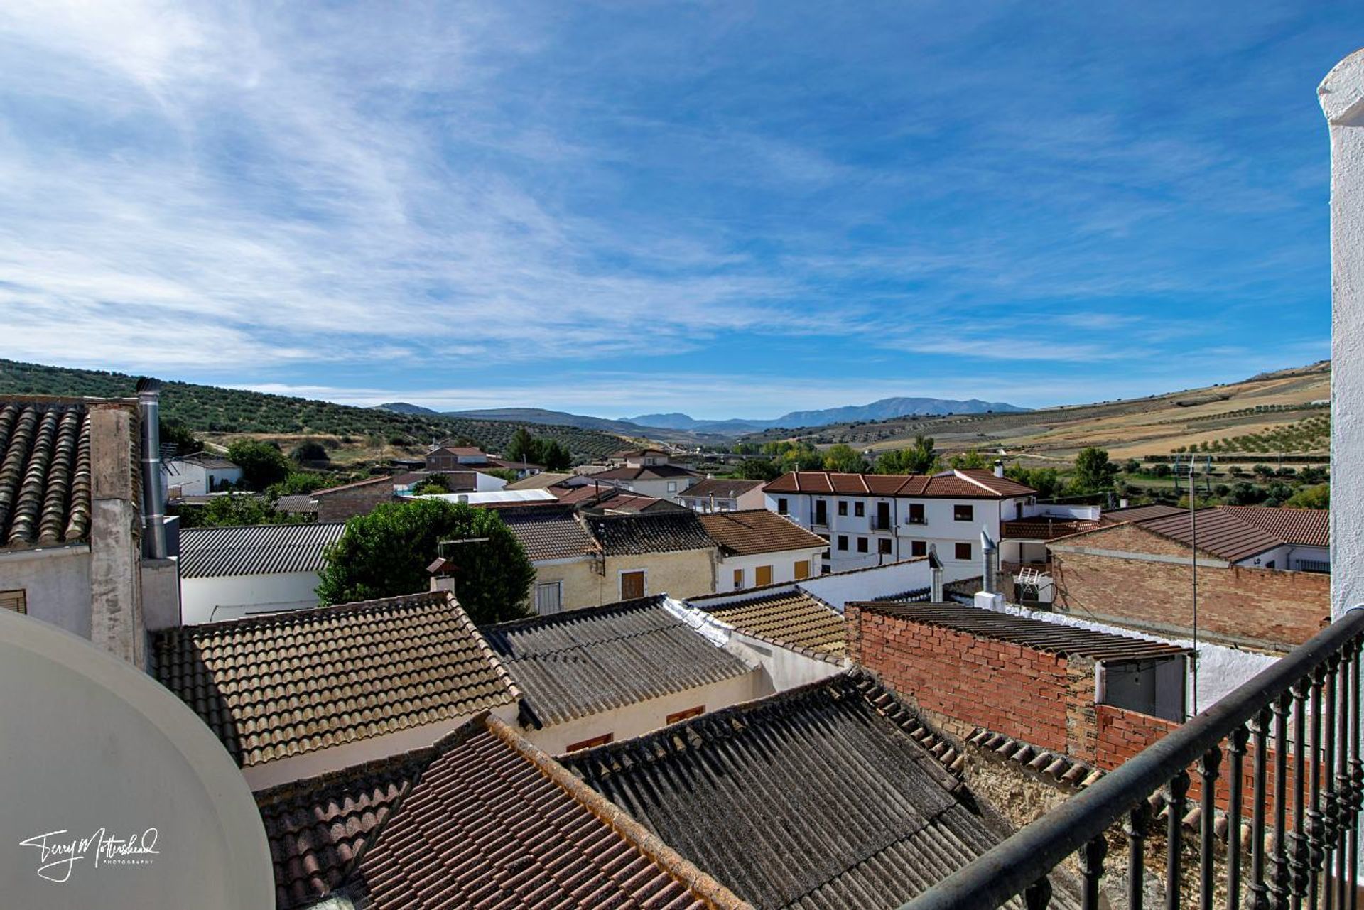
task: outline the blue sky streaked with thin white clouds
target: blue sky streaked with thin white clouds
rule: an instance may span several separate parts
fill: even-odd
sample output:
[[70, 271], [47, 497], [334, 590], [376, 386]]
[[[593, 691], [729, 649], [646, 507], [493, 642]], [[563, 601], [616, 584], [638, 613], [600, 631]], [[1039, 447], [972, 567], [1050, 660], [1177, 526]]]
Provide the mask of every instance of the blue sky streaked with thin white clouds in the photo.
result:
[[776, 416], [1329, 356], [1364, 4], [0, 8], [0, 356]]

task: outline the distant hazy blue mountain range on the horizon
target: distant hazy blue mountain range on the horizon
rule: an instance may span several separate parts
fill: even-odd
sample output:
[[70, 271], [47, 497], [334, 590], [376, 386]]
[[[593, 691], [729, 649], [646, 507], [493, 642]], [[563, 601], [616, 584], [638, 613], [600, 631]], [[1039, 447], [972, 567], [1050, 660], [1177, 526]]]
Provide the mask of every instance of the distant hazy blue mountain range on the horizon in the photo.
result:
[[911, 415], [944, 415], [944, 413], [1004, 413], [1019, 412], [1012, 404], [997, 401], [981, 401], [971, 398], [958, 401], [955, 398], [881, 398], [872, 404], [854, 405], [847, 408], [828, 408], [824, 411], [791, 411], [776, 420], [746, 420], [732, 417], [730, 420], [697, 420], [685, 413], [642, 413], [637, 417], [621, 417], [610, 420], [607, 417], [592, 417], [566, 411], [547, 411], [544, 408], [481, 408], [475, 411], [432, 411], [405, 401], [381, 404], [378, 408], [397, 413], [411, 413], [421, 416], [457, 417], [462, 420], [510, 420], [517, 423], [542, 423], [578, 427], [582, 430], [599, 430], [603, 432], [617, 432], [627, 437], [647, 437], [657, 439], [682, 439], [686, 437], [741, 437], [749, 432], [761, 432], [772, 427], [818, 427], [827, 423], [850, 423], [863, 420], [889, 420]]

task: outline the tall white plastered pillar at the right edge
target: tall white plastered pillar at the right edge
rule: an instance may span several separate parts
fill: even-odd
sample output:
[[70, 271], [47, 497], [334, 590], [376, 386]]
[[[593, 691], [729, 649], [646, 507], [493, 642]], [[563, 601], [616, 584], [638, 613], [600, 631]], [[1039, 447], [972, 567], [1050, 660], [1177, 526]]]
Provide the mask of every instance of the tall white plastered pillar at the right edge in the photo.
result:
[[1364, 50], [1316, 89], [1331, 138], [1331, 615], [1364, 603]]

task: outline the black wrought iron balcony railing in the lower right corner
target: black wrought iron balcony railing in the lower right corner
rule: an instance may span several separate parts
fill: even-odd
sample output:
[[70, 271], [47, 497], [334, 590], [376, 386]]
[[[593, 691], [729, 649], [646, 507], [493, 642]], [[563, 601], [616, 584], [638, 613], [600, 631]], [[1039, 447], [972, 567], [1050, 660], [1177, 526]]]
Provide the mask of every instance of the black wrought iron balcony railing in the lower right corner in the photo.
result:
[[[1086, 910], [1124, 902], [1138, 910], [1153, 853], [1163, 865], [1162, 900], [1170, 910], [1353, 910], [1364, 805], [1361, 645], [1364, 610], [1353, 610], [904, 910], [988, 910], [1018, 895], [1028, 910], [1041, 910], [1052, 898], [1050, 879], [1071, 857]], [[1196, 813], [1188, 812], [1191, 786], [1199, 791]], [[1151, 850], [1161, 813], [1163, 855]], [[1195, 816], [1196, 860], [1194, 845], [1184, 845], [1185, 820]], [[1110, 838], [1127, 842], [1125, 881], [1105, 880]], [[1106, 885], [1116, 894], [1101, 896]]]

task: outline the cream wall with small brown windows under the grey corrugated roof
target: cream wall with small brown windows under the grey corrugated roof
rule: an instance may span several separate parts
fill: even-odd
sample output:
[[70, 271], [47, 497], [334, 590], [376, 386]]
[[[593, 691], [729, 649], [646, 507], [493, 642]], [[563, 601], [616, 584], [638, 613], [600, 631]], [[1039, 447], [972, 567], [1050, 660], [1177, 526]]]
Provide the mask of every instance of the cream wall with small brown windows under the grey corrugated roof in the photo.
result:
[[625, 708], [577, 718], [543, 730], [521, 730], [521, 733], [550, 754], [562, 754], [570, 744], [584, 742], [606, 733], [610, 733], [617, 742], [641, 737], [666, 726], [667, 716], [678, 711], [698, 705], [704, 705], [708, 712], [719, 711], [741, 701], [761, 699], [772, 692], [768, 675], [761, 669], [754, 669], [752, 673], [732, 679], [674, 692], [660, 699], [637, 701]]

